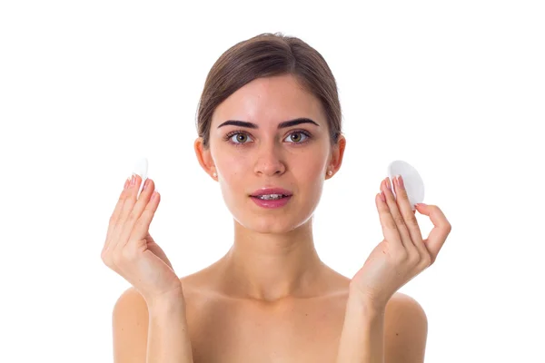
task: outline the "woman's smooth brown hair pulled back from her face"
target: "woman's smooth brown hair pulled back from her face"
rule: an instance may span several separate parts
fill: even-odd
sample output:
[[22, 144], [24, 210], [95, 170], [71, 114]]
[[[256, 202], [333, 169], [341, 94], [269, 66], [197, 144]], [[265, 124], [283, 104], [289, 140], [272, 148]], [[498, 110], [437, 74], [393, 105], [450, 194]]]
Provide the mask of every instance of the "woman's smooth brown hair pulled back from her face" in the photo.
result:
[[259, 34], [234, 44], [213, 64], [206, 77], [197, 112], [197, 132], [209, 148], [210, 126], [216, 107], [254, 79], [292, 74], [322, 103], [332, 145], [342, 133], [342, 113], [332, 71], [312, 46], [281, 33]]

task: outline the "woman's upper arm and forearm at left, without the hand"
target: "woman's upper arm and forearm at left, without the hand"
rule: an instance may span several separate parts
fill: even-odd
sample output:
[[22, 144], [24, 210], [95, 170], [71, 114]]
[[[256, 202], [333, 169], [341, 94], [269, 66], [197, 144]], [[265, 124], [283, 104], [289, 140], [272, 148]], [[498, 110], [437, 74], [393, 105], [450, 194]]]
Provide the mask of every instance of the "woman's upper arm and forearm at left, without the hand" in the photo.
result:
[[149, 306], [134, 288], [114, 307], [115, 363], [193, 363], [182, 294]]

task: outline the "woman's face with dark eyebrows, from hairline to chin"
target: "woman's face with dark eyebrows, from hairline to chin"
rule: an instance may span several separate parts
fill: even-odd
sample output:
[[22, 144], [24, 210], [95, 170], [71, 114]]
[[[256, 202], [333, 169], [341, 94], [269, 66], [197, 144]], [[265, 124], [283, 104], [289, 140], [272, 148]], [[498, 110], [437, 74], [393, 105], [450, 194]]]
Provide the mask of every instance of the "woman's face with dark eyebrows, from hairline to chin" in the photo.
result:
[[[279, 128], [295, 119], [305, 122]], [[253, 231], [282, 233], [312, 217], [332, 169], [332, 152], [322, 104], [293, 76], [282, 75], [254, 80], [216, 108], [205, 158], [236, 221]], [[251, 197], [263, 188], [282, 188], [292, 196], [280, 208], [263, 208]]]

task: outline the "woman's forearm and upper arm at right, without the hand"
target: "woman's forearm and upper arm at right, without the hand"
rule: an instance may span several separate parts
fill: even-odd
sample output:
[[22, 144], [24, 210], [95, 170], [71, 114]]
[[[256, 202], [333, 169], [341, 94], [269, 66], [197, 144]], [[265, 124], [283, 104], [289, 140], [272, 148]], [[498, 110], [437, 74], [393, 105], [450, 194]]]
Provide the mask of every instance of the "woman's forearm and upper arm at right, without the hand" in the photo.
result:
[[421, 363], [428, 320], [415, 299], [396, 293], [386, 307], [351, 293], [337, 363]]

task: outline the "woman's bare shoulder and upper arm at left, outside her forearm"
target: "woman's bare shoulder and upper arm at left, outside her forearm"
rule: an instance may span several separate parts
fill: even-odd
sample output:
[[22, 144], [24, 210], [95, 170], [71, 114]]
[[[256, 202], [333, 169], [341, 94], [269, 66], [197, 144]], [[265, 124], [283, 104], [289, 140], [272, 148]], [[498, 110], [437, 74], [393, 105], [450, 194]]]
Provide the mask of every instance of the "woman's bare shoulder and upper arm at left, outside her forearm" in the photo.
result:
[[148, 309], [137, 289], [124, 290], [115, 302], [112, 317], [114, 362], [145, 363]]

